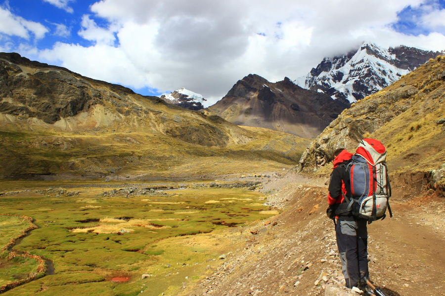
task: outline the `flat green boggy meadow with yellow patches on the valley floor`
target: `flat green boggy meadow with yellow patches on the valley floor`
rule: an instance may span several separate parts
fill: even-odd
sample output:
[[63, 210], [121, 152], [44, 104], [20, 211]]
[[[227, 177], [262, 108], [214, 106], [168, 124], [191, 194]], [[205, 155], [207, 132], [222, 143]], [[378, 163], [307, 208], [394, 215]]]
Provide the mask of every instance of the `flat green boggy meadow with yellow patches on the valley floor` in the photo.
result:
[[[127, 198], [126, 186], [0, 182], [0, 286], [38, 273], [38, 260], [11, 252], [46, 261], [41, 278], [4, 295], [175, 294], [235, 251], [236, 226], [276, 214], [243, 188], [189, 184]], [[22, 216], [37, 228], [5, 249], [32, 225]]]

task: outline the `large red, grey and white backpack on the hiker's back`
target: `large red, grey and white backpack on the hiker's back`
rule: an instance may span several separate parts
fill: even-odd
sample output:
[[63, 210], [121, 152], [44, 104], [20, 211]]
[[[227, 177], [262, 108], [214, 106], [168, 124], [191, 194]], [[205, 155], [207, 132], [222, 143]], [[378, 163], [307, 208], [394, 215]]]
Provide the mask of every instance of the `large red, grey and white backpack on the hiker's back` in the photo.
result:
[[391, 185], [386, 166], [386, 148], [377, 140], [361, 140], [356, 154], [347, 165], [350, 176], [351, 195], [343, 194], [348, 203], [348, 212], [354, 216], [372, 222], [386, 217], [389, 205]]

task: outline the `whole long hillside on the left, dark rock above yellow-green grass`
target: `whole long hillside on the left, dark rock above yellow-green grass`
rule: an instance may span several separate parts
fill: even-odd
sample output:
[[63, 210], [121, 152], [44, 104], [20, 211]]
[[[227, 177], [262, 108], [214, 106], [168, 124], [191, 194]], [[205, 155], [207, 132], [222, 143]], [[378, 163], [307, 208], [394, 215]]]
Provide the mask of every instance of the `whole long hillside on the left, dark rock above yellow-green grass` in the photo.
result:
[[296, 161], [303, 143], [0, 53], [3, 177], [188, 178], [274, 170]]

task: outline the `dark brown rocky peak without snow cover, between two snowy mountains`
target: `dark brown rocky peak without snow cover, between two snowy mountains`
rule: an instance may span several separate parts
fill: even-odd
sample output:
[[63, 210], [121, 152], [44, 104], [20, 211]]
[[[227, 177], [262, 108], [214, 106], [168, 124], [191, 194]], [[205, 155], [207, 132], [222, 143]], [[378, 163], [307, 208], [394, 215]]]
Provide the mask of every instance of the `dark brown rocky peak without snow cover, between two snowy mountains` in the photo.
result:
[[305, 90], [287, 77], [271, 83], [249, 74], [208, 111], [237, 125], [313, 138], [347, 107], [348, 102]]

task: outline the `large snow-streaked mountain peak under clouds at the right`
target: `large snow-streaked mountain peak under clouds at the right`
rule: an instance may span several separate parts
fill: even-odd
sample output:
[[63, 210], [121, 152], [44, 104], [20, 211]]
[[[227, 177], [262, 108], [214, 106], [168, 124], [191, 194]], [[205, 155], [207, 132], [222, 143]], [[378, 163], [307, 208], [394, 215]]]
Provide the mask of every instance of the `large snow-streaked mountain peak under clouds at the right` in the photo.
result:
[[382, 48], [365, 42], [357, 51], [324, 58], [297, 84], [351, 103], [371, 95], [408, 74], [439, 52], [401, 45]]

